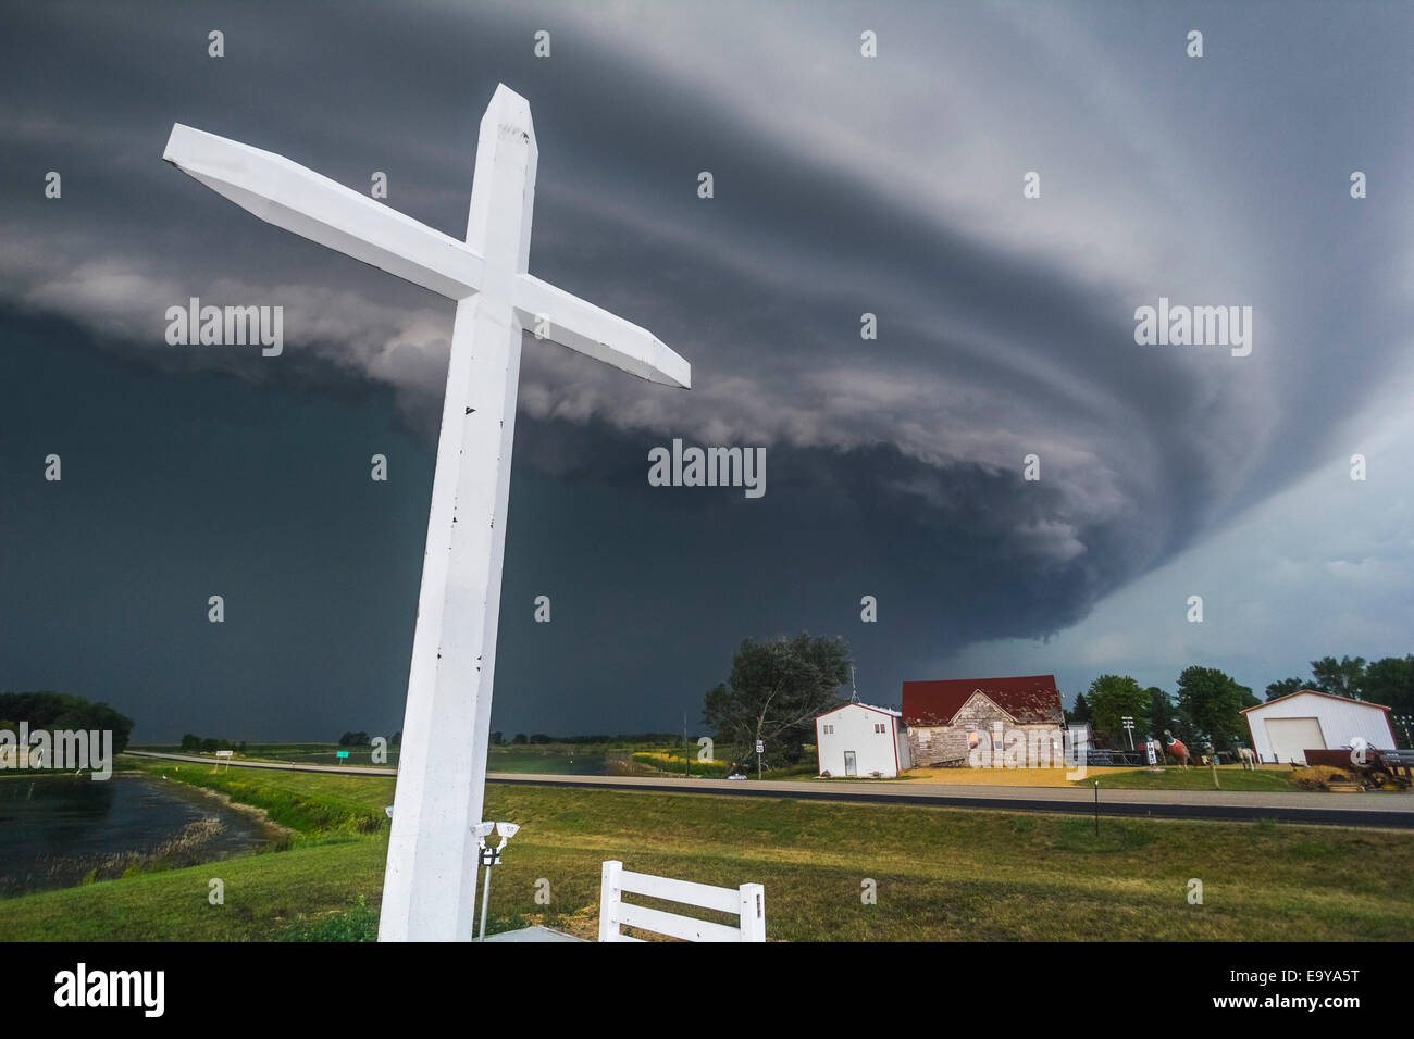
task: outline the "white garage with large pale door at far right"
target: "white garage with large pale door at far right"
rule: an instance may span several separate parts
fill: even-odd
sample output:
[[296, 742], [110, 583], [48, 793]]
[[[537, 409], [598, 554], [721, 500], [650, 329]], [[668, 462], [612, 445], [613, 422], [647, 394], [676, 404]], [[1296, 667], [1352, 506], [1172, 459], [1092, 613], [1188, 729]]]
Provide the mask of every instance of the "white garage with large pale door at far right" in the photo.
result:
[[1390, 708], [1304, 688], [1243, 710], [1251, 749], [1264, 762], [1305, 762], [1307, 751], [1336, 751], [1356, 736], [1376, 749], [1398, 746]]

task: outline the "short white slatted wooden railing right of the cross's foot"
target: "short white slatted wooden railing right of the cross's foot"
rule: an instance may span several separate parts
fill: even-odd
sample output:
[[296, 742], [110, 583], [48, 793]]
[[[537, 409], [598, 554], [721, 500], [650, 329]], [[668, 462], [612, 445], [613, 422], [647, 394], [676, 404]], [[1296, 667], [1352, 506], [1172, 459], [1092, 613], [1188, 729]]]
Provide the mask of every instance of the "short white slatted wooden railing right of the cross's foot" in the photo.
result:
[[[682, 902], [701, 909], [717, 909], [737, 917], [740, 926], [696, 920], [662, 909], [635, 906], [624, 895], [646, 895]], [[604, 864], [600, 884], [600, 941], [642, 941], [619, 932], [621, 926], [641, 927], [687, 941], [765, 941], [766, 892], [759, 884], [740, 888], [713, 888], [708, 884], [672, 881], [666, 876], [635, 874], [618, 859]]]

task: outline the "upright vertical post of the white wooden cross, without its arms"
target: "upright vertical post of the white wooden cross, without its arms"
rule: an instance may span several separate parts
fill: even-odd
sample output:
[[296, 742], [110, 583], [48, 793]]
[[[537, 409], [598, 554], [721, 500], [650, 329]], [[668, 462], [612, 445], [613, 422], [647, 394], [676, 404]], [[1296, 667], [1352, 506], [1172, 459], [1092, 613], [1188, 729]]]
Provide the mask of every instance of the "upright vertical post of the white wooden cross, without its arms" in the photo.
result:
[[[486, 782], [520, 375], [510, 293], [530, 257], [536, 161], [530, 106], [502, 86], [477, 143], [467, 245], [484, 257], [484, 281], [457, 304], [452, 329], [380, 941], [469, 941], [474, 933], [472, 824]], [[437, 889], [458, 892], [455, 908]]]

